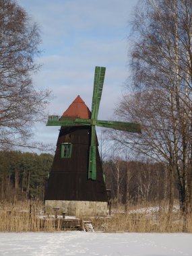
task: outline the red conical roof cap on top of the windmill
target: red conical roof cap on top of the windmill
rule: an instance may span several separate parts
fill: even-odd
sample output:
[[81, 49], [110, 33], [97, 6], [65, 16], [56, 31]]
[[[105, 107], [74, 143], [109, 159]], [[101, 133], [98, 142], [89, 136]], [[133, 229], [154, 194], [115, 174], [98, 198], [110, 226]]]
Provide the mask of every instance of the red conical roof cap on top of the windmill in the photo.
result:
[[86, 106], [84, 100], [78, 95], [77, 98], [71, 103], [69, 108], [65, 110], [62, 117], [75, 117], [79, 119], [90, 119], [90, 110]]

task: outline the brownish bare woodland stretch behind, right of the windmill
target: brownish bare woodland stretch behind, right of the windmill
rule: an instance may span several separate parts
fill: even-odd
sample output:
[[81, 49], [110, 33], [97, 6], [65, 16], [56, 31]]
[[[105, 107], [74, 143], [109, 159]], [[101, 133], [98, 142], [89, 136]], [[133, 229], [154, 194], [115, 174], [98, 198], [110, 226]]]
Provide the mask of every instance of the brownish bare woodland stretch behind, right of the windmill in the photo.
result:
[[[103, 169], [106, 188], [119, 204], [129, 205], [138, 201], [159, 203], [169, 198], [170, 177], [164, 163], [114, 159], [104, 162]], [[174, 191], [178, 197], [177, 183]]]

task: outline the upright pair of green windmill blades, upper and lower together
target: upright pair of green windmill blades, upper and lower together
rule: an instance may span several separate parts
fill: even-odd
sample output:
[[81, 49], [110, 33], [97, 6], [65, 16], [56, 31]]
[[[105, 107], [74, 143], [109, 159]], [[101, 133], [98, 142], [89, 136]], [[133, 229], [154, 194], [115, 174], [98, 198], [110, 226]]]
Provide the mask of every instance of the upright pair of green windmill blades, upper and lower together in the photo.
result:
[[89, 168], [88, 179], [96, 180], [96, 119], [98, 117], [98, 109], [100, 105], [100, 98], [102, 95], [102, 87], [104, 83], [105, 67], [96, 67], [94, 74], [94, 90], [92, 96], [92, 133], [89, 154]]

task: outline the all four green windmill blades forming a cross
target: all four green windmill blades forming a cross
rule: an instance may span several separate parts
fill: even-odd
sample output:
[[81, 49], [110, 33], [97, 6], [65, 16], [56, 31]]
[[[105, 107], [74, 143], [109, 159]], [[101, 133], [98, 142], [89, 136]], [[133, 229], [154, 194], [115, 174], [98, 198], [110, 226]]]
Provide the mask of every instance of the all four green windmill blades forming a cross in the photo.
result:
[[[56, 115], [50, 115], [46, 123], [46, 125], [48, 126], [56, 125], [56, 126], [66, 126], [66, 127], [74, 127], [74, 126], [90, 126], [91, 127], [90, 142], [89, 142], [90, 150], [89, 150], [88, 179], [92, 179], [92, 180], [96, 180], [96, 152], [97, 152], [96, 127], [95, 127], [96, 125], [100, 127], [112, 128], [112, 129], [117, 129], [121, 131], [128, 131], [131, 133], [141, 133], [141, 127], [137, 123], [97, 120], [98, 110], [100, 106], [100, 99], [102, 96], [102, 87], [104, 84], [105, 70], [106, 70], [105, 67], [95, 68], [91, 119], [89, 118], [90, 117], [89, 115], [88, 115], [88, 119], [83, 119], [79, 116], [79, 113], [78, 115], [77, 113], [75, 113], [75, 115], [63, 115], [62, 117], [59, 117]], [[82, 103], [83, 101], [76, 100], [73, 103], [79, 104], [79, 102]]]

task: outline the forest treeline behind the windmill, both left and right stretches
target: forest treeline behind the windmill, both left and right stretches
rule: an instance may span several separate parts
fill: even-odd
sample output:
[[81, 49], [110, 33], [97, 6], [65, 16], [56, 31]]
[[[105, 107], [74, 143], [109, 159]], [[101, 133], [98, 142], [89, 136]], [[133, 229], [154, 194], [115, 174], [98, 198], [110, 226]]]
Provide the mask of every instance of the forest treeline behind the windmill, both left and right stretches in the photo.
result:
[[[43, 201], [52, 163], [51, 154], [0, 151], [1, 201]], [[116, 203], [158, 202], [169, 197], [169, 172], [164, 163], [111, 158], [105, 160], [102, 166], [106, 189], [110, 189], [111, 198]], [[177, 183], [174, 187], [177, 195]]]

